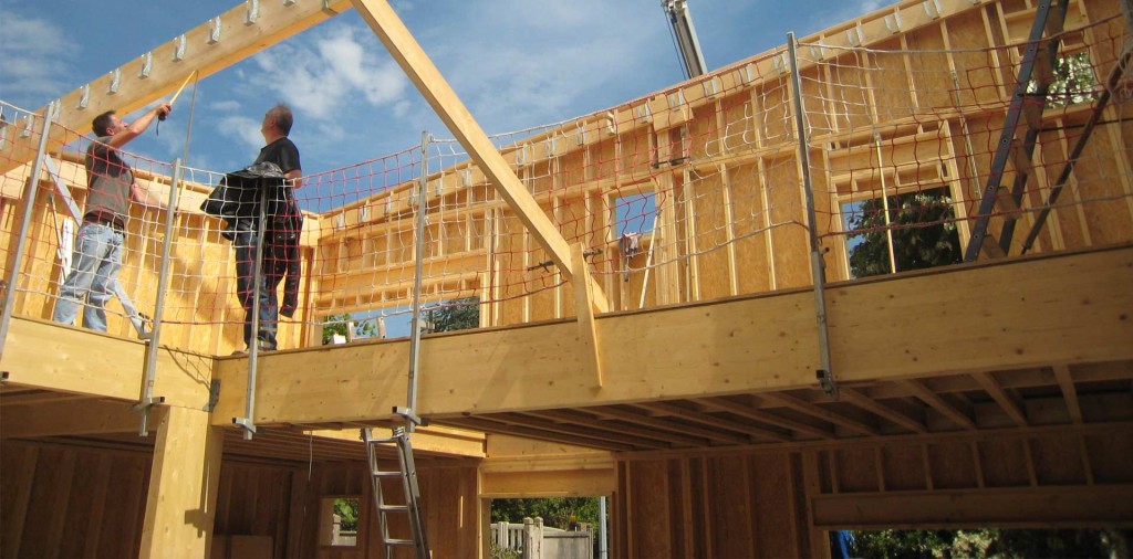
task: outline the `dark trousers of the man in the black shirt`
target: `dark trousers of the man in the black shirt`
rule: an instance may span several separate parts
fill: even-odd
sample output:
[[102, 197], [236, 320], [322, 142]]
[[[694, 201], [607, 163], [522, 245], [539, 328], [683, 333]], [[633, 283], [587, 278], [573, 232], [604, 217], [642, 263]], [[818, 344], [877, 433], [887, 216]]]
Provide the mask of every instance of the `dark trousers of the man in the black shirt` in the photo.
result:
[[[236, 248], [236, 290], [244, 307], [244, 342], [252, 346], [253, 299], [252, 283], [255, 281], [256, 268], [256, 231], [252, 220], [238, 220], [236, 236], [232, 244]], [[266, 235], [265, 235], [266, 236]], [[267, 243], [267, 239], [264, 240]], [[275, 258], [270, 246], [264, 247], [264, 266], [259, 281], [259, 349], [274, 350], [275, 332], [279, 328], [279, 291], [283, 274], [276, 272]]]

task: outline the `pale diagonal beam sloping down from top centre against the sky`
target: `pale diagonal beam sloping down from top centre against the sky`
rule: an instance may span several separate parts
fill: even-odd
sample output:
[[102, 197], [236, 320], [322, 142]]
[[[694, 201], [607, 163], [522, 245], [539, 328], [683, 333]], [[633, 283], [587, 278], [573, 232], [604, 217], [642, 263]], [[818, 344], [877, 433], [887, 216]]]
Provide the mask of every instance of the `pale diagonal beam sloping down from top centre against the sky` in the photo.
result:
[[[468, 156], [479, 165], [500, 196], [514, 209], [516, 216], [547, 251], [547, 256], [559, 267], [563, 277], [574, 281], [574, 268], [571, 266], [566, 240], [496, 150], [492, 140], [429, 60], [428, 54], [417, 44], [417, 40], [409, 33], [390, 3], [385, 0], [351, 0], [351, 3], [385, 44], [429, 106], [436, 111], [437, 117], [449, 127], [449, 131], [468, 152]], [[595, 285], [594, 291], [596, 304], [603, 304], [600, 311], [605, 311], [608, 307], [604, 306], [605, 295], [602, 294], [602, 289]]]

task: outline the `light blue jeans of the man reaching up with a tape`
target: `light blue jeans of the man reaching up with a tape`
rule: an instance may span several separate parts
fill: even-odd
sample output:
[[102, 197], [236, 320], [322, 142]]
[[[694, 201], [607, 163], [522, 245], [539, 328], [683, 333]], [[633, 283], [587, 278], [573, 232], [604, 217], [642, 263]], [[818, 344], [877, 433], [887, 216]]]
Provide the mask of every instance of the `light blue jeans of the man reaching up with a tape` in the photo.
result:
[[83, 223], [75, 241], [71, 269], [59, 290], [59, 301], [52, 319], [75, 324], [78, 308], [83, 310], [83, 327], [107, 332], [107, 301], [114, 295], [113, 285], [122, 267], [122, 232], [97, 223]]

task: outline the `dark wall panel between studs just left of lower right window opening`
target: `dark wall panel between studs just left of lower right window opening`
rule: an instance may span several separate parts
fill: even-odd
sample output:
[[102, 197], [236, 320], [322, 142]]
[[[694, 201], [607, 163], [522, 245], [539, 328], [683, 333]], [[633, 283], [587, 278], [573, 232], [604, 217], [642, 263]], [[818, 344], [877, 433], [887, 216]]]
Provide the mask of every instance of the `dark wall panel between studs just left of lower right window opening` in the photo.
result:
[[792, 515], [798, 505], [792, 501], [790, 455], [756, 455], [749, 459], [751, 494], [759, 557], [800, 557]]

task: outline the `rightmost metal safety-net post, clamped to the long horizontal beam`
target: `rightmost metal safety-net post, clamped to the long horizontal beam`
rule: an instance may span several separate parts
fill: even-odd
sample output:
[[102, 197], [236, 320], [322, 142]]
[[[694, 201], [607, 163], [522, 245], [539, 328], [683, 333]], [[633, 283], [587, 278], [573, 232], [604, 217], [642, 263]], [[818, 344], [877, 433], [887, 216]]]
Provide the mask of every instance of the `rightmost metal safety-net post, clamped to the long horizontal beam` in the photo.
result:
[[830, 397], [838, 397], [838, 386], [830, 367], [829, 332], [826, 322], [826, 270], [821, 247], [818, 243], [815, 217], [815, 191], [810, 179], [810, 140], [802, 104], [802, 76], [799, 74], [799, 45], [794, 33], [786, 34], [787, 51], [791, 57], [791, 86], [794, 89], [794, 126], [799, 137], [799, 163], [802, 166], [802, 187], [807, 195], [807, 232], [810, 236], [810, 275], [815, 282], [815, 318], [818, 322], [818, 353], [821, 369], [816, 376], [818, 384]]

